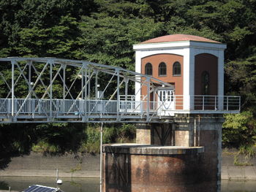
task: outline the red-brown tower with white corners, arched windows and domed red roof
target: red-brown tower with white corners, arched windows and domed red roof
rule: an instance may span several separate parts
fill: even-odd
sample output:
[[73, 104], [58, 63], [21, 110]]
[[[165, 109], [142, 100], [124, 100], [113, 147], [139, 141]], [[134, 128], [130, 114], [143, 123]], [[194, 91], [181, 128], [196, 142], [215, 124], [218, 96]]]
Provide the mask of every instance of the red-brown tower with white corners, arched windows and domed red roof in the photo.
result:
[[[219, 96], [224, 95], [225, 44], [193, 35], [173, 34], [149, 39], [133, 48], [136, 72], [173, 85], [173, 88], [156, 87], [151, 91], [151, 101], [165, 101], [170, 110], [201, 110], [202, 107], [223, 110], [223, 99]], [[135, 93], [140, 86], [136, 83]], [[146, 95], [145, 87], [136, 100]], [[208, 105], [203, 106], [207, 102]]]

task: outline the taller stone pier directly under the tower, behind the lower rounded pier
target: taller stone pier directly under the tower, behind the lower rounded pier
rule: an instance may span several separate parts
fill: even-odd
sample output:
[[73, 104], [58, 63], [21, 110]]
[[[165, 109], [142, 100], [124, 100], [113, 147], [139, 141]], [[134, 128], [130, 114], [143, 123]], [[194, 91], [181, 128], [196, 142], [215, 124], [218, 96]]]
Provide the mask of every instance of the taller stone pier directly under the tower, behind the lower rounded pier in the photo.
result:
[[[176, 117], [173, 123], [152, 123], [151, 126], [147, 125], [144, 128], [148, 128], [148, 134], [144, 136], [139, 134], [137, 140], [140, 143], [150, 140], [151, 142], [147, 144], [152, 145], [205, 147], [202, 161], [197, 164], [197, 167], [201, 170], [205, 181], [211, 183], [211, 187], [215, 191], [220, 191], [222, 123], [222, 117]], [[138, 129], [138, 132], [140, 132], [140, 129]], [[145, 137], [151, 137], [151, 139], [146, 139]]]

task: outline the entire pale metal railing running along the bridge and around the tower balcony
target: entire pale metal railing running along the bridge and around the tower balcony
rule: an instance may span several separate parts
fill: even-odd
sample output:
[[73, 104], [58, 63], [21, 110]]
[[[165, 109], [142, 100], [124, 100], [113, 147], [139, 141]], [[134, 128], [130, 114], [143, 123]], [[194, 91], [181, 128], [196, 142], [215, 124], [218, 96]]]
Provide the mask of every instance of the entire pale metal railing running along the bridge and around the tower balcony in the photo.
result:
[[[132, 97], [131, 97], [132, 98]], [[27, 115], [163, 115], [172, 112], [239, 112], [240, 96], [173, 96], [165, 101], [135, 101], [132, 99], [0, 99], [0, 114]], [[12, 106], [13, 102], [13, 106]], [[163, 113], [164, 112], [164, 113]]]

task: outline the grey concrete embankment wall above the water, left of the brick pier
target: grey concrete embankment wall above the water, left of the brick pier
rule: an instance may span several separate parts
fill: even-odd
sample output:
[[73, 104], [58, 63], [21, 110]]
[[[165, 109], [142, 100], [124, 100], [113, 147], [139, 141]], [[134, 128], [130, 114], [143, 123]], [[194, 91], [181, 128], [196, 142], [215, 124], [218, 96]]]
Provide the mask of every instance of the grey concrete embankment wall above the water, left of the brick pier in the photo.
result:
[[[99, 155], [70, 154], [43, 155], [33, 153], [11, 158], [0, 176], [56, 177], [99, 177]], [[75, 172], [72, 172], [75, 171]]]

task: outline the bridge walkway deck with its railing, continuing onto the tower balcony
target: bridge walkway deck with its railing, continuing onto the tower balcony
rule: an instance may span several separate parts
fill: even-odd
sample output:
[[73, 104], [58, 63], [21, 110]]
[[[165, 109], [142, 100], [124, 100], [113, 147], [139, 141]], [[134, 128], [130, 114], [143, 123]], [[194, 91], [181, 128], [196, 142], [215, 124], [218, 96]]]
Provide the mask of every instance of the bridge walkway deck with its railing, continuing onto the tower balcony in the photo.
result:
[[147, 101], [100, 99], [0, 99], [0, 121], [1, 123], [159, 122], [159, 120], [170, 120], [179, 113], [239, 112], [239, 105], [225, 104], [222, 110], [217, 110], [216, 106], [217, 104], [208, 102], [205, 106], [198, 104], [195, 110], [182, 110], [178, 101], [176, 107], [171, 108], [165, 106], [163, 101], [151, 101], [148, 105]]

